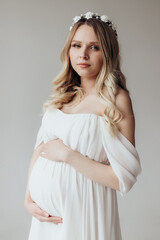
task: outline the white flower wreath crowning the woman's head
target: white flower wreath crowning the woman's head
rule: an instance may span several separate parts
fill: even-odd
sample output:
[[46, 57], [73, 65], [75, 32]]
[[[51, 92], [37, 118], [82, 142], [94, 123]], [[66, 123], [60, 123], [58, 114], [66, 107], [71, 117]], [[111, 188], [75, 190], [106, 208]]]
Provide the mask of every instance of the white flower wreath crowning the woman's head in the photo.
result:
[[100, 16], [100, 15], [98, 15], [98, 13], [92, 13], [92, 12], [87, 12], [85, 14], [81, 14], [80, 16], [75, 16], [73, 18], [72, 26], [70, 26], [69, 30], [71, 31], [74, 24], [76, 22], [78, 22], [80, 19], [89, 19], [89, 18], [96, 18], [98, 20], [101, 20], [101, 21], [107, 23], [109, 25], [109, 27], [112, 28], [113, 32], [115, 33], [115, 35], [117, 37], [117, 31], [116, 31], [117, 26], [111, 20], [108, 19], [108, 16], [106, 16], [106, 15]]

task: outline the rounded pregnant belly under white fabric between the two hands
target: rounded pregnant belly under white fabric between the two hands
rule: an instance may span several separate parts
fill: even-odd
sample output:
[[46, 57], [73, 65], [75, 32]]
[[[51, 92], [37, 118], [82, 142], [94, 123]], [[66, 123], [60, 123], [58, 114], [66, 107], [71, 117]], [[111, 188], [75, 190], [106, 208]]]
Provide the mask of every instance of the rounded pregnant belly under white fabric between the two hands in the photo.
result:
[[[75, 172], [64, 162], [55, 162], [39, 157], [35, 162], [30, 179], [31, 198], [51, 216], [62, 216], [66, 199], [70, 196], [69, 178], [74, 181]], [[75, 176], [76, 177], [76, 176]]]

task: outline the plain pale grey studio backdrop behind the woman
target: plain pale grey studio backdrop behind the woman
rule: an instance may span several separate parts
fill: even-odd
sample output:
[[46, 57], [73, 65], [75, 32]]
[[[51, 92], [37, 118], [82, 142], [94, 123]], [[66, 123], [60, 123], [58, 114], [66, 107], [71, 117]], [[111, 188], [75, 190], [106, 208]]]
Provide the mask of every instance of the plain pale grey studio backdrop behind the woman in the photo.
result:
[[2, 240], [27, 240], [31, 216], [23, 202], [42, 104], [61, 69], [72, 18], [87, 11], [117, 24], [136, 118], [143, 172], [125, 197], [118, 194], [123, 240], [160, 239], [160, 1], [0, 0]]

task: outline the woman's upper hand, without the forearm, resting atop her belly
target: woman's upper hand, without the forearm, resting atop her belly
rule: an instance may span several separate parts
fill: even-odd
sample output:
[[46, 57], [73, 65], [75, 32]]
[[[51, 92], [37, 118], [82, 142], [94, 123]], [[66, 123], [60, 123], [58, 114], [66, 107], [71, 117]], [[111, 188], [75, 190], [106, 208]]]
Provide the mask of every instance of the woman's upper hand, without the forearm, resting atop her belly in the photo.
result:
[[52, 161], [66, 162], [71, 148], [66, 146], [59, 138], [50, 140], [43, 145], [40, 156]]

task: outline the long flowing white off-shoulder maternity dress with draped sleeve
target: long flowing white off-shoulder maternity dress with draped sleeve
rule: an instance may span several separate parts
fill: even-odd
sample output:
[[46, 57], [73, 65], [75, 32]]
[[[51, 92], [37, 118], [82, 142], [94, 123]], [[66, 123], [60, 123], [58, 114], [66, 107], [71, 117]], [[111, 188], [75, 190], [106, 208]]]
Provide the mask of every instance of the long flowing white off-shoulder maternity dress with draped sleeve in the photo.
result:
[[[34, 148], [56, 138], [91, 159], [110, 164], [122, 196], [141, 172], [136, 148], [120, 132], [112, 138], [103, 116], [47, 110]], [[63, 223], [40, 222], [32, 216], [28, 240], [122, 239], [116, 190], [92, 181], [69, 164], [40, 156], [32, 168], [29, 189], [38, 206], [62, 217]]]

